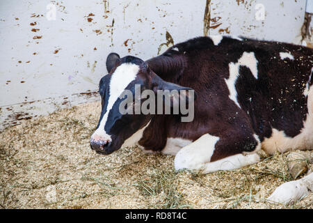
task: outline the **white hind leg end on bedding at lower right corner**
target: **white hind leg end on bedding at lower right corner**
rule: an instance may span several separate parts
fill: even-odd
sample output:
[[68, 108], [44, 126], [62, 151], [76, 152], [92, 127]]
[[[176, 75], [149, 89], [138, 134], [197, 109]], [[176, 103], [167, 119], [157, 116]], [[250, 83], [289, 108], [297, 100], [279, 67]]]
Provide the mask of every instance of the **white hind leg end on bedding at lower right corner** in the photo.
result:
[[291, 204], [313, 191], [313, 173], [301, 178], [283, 183], [268, 197], [268, 201]]

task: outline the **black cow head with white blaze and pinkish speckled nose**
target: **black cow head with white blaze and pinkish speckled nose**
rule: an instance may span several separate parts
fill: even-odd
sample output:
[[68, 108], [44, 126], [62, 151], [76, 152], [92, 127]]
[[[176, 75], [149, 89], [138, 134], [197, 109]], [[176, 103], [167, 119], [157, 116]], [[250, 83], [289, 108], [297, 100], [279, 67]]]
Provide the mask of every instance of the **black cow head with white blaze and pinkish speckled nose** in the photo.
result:
[[120, 95], [123, 92], [126, 90], [134, 92], [135, 86], [138, 85], [141, 91], [189, 89], [163, 81], [145, 61], [134, 56], [120, 58], [118, 54], [111, 53], [106, 59], [106, 69], [109, 74], [102, 77], [99, 82], [102, 112], [97, 130], [90, 138], [91, 148], [103, 155], [117, 151], [127, 139], [147, 125], [152, 118], [151, 114], [122, 114], [120, 104], [125, 98]]

